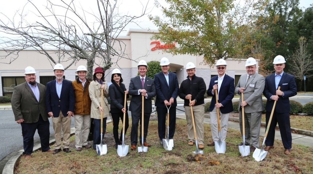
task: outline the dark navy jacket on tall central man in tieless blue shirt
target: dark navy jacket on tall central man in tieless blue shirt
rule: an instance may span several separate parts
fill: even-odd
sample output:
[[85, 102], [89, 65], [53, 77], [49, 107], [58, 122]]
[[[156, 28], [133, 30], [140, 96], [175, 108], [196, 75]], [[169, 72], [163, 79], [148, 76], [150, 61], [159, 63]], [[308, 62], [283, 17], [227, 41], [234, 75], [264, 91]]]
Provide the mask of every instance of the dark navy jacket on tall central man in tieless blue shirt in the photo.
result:
[[170, 101], [170, 98], [174, 98], [174, 103], [172, 104], [172, 107], [177, 106], [176, 98], [178, 96], [178, 80], [177, 76], [173, 72], [168, 72], [168, 83], [166, 82], [166, 78], [164, 77], [163, 72], [159, 72], [154, 75], [154, 84], [156, 87], [156, 107], [166, 107], [164, 105], [164, 100]]

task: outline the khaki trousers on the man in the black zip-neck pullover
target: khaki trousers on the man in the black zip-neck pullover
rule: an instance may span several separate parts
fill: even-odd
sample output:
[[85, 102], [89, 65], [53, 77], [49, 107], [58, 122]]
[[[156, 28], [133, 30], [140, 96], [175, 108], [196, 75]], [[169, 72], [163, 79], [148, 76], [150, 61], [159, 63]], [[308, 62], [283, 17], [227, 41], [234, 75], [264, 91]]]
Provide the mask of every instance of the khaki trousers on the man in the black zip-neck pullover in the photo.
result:
[[[192, 125], [192, 116], [191, 116], [191, 109], [190, 106], [184, 106], [185, 108], [185, 114], [186, 114], [186, 120], [187, 120], [187, 134], [188, 134], [188, 142], [195, 141], [195, 136], [193, 132], [193, 125]], [[204, 138], [204, 127], [203, 127], [203, 119], [204, 119], [204, 104], [193, 106], [193, 116], [195, 119], [195, 126], [196, 126], [196, 132], [197, 132], [197, 139], [198, 139], [198, 145], [204, 144], [203, 138]]]

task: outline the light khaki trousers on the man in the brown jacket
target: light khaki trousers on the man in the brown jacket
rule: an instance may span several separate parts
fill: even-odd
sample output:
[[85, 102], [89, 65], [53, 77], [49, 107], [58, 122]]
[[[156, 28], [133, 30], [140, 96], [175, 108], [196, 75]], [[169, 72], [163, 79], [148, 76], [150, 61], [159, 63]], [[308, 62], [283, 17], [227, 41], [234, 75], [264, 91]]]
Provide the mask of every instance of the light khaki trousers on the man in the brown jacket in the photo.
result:
[[75, 147], [83, 147], [88, 144], [87, 139], [90, 131], [90, 114], [75, 115]]

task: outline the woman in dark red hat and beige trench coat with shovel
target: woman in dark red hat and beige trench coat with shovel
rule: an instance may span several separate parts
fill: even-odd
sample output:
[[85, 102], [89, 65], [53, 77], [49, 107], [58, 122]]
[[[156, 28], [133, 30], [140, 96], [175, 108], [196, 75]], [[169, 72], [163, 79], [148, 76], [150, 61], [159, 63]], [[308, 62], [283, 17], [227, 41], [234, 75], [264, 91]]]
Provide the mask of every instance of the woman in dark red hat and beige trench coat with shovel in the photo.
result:
[[[103, 96], [101, 96], [103, 89]], [[100, 144], [100, 124], [101, 111], [103, 111], [103, 132], [106, 130], [106, 118], [110, 116], [110, 107], [106, 97], [109, 97], [108, 83], [104, 81], [104, 72], [101, 67], [95, 69], [93, 81], [89, 85], [89, 96], [91, 99], [90, 117], [94, 118], [93, 148], [96, 150], [96, 144]], [[103, 98], [103, 108], [101, 107], [101, 97]], [[104, 135], [104, 134], [103, 134]]]

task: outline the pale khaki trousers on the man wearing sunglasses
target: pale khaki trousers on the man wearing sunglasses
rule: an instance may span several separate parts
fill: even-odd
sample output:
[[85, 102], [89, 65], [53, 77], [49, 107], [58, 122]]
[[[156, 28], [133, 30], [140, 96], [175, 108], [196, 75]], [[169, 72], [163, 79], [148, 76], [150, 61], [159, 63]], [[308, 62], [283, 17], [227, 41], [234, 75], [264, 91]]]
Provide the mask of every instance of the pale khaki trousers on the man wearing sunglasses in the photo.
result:
[[[228, 118], [229, 113], [222, 114], [221, 110], [219, 111], [219, 119], [220, 119], [220, 127], [221, 127], [221, 141], [224, 142], [226, 139], [227, 134], [227, 125], [228, 125]], [[211, 132], [212, 132], [212, 139], [214, 142], [219, 140], [218, 138], [218, 125], [217, 125], [217, 109], [214, 107], [212, 112], [210, 112], [210, 123], [211, 123]]]

